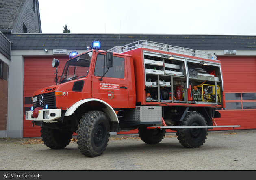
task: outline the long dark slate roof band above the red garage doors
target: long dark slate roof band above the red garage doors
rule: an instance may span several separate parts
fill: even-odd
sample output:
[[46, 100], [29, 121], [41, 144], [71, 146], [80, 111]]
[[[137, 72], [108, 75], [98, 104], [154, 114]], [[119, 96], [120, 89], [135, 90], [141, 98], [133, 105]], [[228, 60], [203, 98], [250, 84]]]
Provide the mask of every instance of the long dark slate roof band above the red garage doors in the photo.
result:
[[157, 35], [157, 34], [76, 34], [11, 33], [11, 50], [87, 50], [94, 40], [102, 50], [147, 40], [195, 50], [256, 50], [256, 36], [248, 35]]

